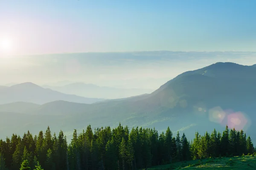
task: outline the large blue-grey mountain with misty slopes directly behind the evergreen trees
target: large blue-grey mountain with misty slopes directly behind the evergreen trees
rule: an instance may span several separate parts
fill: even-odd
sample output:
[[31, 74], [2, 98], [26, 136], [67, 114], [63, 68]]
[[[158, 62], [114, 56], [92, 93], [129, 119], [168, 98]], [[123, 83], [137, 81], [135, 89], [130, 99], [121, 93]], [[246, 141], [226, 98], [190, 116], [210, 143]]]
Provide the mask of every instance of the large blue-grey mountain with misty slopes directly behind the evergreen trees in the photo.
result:
[[216, 130], [223, 130], [228, 124], [237, 130], [246, 130], [247, 135], [256, 141], [256, 136], [253, 136], [255, 75], [255, 65], [215, 63], [184, 72], [151, 94], [132, 98], [93, 104], [63, 100], [41, 105], [3, 104], [0, 105], [0, 137], [5, 138], [13, 132], [22, 134], [27, 130], [37, 133], [45, 130], [47, 125], [52, 131], [70, 132], [81, 130], [88, 124], [116, 127], [121, 122], [129, 127], [156, 127], [159, 131], [169, 126], [174, 133], [179, 130], [186, 134], [204, 133], [216, 127]]

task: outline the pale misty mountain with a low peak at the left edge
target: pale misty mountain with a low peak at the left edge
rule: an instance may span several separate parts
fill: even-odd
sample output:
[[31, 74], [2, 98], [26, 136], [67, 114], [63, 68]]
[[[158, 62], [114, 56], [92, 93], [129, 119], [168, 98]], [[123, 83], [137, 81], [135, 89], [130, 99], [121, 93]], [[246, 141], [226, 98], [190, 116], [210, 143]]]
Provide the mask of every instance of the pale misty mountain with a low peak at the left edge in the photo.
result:
[[67, 95], [61, 92], [53, 91], [51, 89], [45, 89], [33, 83], [22, 83], [10, 87], [0, 88], [0, 104], [19, 101], [35, 104], [45, 104], [57, 100], [91, 104], [97, 101], [103, 101], [104, 99], [84, 98], [77, 95]]

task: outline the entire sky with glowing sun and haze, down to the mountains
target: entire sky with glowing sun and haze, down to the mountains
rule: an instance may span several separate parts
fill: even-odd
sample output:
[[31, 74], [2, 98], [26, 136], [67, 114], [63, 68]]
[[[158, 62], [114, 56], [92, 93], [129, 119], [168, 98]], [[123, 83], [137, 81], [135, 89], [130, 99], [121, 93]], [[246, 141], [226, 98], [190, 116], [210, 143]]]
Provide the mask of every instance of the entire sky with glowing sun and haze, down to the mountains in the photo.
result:
[[253, 65], [255, 7], [255, 0], [0, 0], [0, 85], [157, 89], [218, 61]]

